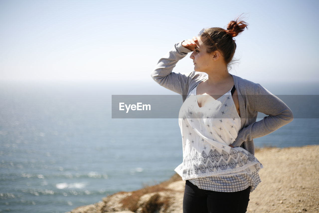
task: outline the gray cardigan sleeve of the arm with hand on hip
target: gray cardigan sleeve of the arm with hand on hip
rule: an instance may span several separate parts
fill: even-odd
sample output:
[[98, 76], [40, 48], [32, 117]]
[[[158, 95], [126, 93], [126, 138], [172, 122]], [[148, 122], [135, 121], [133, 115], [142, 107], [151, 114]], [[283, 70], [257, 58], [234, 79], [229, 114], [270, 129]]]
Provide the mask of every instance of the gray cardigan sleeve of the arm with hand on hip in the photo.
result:
[[[258, 122], [253, 122], [242, 128], [233, 146], [241, 146], [244, 141], [251, 141], [253, 138], [259, 138], [270, 134], [287, 123], [293, 121], [291, 109], [277, 96], [257, 84], [257, 95], [248, 95], [248, 101], [254, 104], [256, 112], [264, 113], [268, 116]], [[251, 119], [248, 117], [248, 119]]]

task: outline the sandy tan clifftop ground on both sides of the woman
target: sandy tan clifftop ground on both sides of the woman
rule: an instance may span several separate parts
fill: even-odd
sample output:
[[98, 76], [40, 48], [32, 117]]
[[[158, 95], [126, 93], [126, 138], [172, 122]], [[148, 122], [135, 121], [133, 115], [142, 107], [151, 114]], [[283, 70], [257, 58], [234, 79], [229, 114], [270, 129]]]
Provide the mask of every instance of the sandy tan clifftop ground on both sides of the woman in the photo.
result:
[[[256, 150], [255, 156], [264, 168], [259, 172], [262, 182], [250, 193], [247, 212], [319, 212], [319, 145], [261, 148]], [[173, 182], [159, 184], [159, 192], [142, 189], [116, 193], [99, 203], [74, 209], [71, 213], [129, 213], [130, 209], [122, 205], [123, 198], [130, 201], [132, 194], [140, 196], [143, 190], [145, 193], [138, 201], [140, 208], [134, 212], [182, 213], [184, 185], [185, 181], [175, 177]], [[145, 203], [150, 205], [150, 198], [153, 196], [154, 199], [154, 195], [157, 195], [157, 203], [166, 203], [166, 206], [149, 211]]]

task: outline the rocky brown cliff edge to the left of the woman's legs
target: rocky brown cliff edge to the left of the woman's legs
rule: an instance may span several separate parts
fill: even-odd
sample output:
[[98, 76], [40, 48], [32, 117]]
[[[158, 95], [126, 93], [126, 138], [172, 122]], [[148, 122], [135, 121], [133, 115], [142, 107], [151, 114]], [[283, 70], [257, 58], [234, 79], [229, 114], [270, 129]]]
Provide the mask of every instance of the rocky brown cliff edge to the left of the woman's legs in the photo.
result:
[[66, 213], [182, 213], [185, 181], [175, 174], [158, 185], [133, 192], [118, 192], [101, 202], [81, 206]]

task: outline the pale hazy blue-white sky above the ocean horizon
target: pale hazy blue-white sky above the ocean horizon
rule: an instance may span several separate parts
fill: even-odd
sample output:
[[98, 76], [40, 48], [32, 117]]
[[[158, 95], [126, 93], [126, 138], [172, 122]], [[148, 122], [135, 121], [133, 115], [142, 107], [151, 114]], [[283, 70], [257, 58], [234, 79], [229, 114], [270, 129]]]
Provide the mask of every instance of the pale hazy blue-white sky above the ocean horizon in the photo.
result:
[[[11, 81], [149, 82], [174, 43], [245, 13], [230, 73], [318, 81], [319, 1], [0, 0], [0, 74]], [[189, 55], [175, 72], [190, 72]]]

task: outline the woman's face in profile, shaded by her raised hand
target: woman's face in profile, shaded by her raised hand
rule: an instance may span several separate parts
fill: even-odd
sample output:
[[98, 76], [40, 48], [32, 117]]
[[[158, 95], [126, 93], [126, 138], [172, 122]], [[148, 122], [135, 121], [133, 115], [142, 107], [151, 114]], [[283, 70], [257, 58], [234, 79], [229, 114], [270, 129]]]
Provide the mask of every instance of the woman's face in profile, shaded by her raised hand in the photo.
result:
[[193, 59], [195, 71], [206, 72], [214, 66], [214, 55], [207, 53], [206, 46], [199, 36], [197, 36], [196, 44], [189, 58]]

